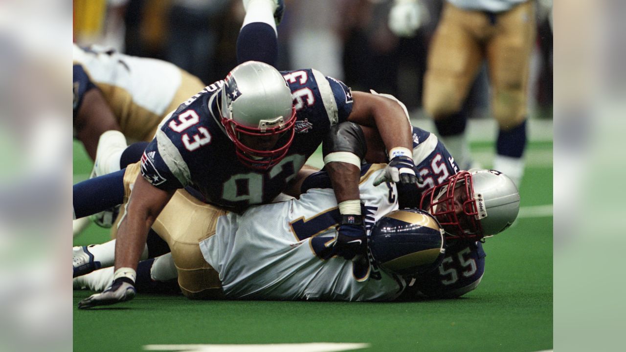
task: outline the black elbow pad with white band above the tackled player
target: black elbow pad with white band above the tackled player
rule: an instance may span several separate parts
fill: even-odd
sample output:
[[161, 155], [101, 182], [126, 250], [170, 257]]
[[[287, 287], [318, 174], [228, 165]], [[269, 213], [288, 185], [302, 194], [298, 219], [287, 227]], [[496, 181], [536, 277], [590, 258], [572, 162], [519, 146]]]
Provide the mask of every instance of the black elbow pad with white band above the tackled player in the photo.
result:
[[342, 122], [331, 127], [322, 143], [324, 163], [346, 162], [361, 168], [367, 153], [365, 135], [354, 122]]

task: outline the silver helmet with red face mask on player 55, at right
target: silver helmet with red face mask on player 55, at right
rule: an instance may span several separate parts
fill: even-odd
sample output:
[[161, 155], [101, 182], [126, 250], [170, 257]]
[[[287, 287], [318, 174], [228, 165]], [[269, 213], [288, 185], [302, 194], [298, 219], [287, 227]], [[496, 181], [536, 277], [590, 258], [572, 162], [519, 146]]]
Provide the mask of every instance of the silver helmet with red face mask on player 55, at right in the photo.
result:
[[504, 173], [473, 168], [424, 192], [421, 208], [430, 209], [449, 237], [476, 241], [513, 224], [520, 193]]

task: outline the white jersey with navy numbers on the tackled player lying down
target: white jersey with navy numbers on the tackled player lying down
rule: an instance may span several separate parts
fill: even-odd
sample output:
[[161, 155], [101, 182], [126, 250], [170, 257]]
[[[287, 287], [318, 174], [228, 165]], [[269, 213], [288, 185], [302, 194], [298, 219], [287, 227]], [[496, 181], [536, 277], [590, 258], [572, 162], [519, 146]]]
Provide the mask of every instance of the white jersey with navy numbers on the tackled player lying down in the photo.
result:
[[[398, 209], [396, 185], [374, 187], [385, 165], [372, 165], [359, 190], [369, 229]], [[200, 242], [225, 294], [245, 299], [390, 301], [406, 283], [374, 265], [328, 257], [339, 210], [332, 189], [220, 217], [217, 233]], [[369, 230], [368, 230], [369, 233]]]

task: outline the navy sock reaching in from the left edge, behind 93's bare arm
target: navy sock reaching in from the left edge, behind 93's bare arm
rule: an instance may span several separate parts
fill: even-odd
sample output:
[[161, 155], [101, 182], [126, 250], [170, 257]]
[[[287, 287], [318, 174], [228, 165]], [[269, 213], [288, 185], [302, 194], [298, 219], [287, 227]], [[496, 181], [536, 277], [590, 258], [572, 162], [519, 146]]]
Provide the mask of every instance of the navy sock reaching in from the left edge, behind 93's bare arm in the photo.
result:
[[126, 169], [108, 173], [73, 186], [76, 219], [97, 214], [124, 202], [124, 173]]

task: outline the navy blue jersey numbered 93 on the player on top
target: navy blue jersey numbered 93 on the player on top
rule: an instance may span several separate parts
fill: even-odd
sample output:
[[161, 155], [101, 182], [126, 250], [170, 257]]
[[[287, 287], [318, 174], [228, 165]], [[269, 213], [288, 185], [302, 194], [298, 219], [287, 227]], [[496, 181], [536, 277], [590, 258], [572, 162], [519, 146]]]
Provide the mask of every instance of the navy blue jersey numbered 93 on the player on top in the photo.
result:
[[141, 160], [143, 177], [164, 190], [193, 187], [203, 201], [235, 211], [272, 202], [331, 126], [352, 111], [351, 90], [341, 81], [311, 69], [281, 74], [292, 91], [297, 121], [294, 141], [277, 165], [252, 170], [239, 162], [220, 122], [223, 81], [217, 81], [180, 105], [156, 132]]

